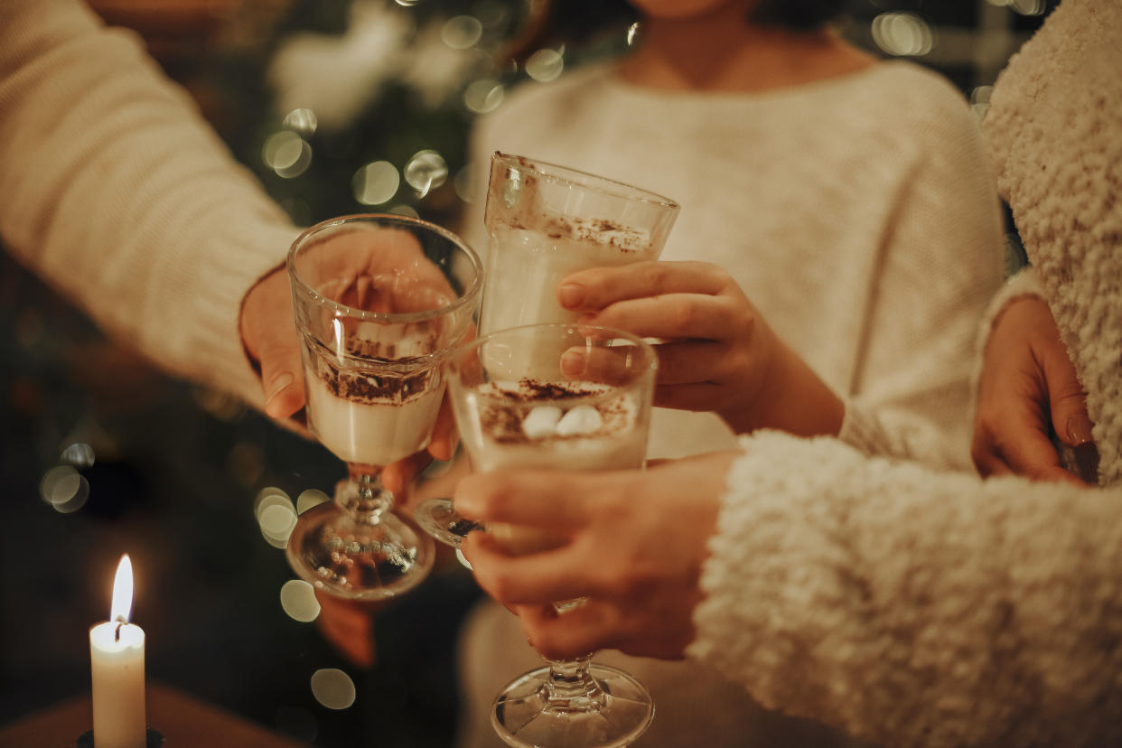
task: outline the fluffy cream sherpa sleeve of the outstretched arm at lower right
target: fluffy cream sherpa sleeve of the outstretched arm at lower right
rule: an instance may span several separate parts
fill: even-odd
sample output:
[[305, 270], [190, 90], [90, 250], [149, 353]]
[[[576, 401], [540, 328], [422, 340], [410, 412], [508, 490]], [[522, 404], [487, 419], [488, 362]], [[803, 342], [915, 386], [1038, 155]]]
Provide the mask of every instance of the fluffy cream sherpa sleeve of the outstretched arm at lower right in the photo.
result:
[[893, 748], [1122, 745], [1122, 493], [742, 444], [690, 656]]

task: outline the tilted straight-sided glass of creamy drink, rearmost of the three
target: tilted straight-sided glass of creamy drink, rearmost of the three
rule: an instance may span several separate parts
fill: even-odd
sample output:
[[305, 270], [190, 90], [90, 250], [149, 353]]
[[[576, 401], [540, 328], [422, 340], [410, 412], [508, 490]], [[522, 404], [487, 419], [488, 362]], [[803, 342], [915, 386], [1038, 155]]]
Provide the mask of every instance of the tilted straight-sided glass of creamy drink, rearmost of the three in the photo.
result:
[[[488, 250], [480, 331], [576, 323], [579, 313], [558, 302], [561, 280], [577, 270], [657, 259], [679, 210], [674, 201], [632, 185], [496, 153], [484, 213]], [[472, 528], [442, 498], [422, 502], [416, 518], [449, 545], [459, 545]]]

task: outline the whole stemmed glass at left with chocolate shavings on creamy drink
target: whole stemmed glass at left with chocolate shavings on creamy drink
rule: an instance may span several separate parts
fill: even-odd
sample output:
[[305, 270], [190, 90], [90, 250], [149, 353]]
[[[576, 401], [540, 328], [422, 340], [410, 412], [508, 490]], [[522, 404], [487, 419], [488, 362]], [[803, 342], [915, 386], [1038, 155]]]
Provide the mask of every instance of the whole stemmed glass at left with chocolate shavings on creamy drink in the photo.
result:
[[473, 330], [482, 266], [458, 237], [402, 215], [350, 215], [288, 252], [307, 425], [347, 463], [334, 501], [288, 538], [296, 573], [341, 598], [380, 600], [419, 584], [432, 539], [394, 512], [386, 465], [425, 447], [447, 353]]

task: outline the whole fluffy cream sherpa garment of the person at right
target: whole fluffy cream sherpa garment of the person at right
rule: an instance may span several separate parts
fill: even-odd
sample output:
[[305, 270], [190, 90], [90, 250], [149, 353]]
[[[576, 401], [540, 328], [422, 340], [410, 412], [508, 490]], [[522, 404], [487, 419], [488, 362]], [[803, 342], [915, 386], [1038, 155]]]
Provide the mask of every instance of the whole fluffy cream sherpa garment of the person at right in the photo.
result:
[[689, 654], [764, 704], [898, 748], [1122, 745], [1119, 29], [1065, 0], [986, 120], [1111, 488], [744, 438]]

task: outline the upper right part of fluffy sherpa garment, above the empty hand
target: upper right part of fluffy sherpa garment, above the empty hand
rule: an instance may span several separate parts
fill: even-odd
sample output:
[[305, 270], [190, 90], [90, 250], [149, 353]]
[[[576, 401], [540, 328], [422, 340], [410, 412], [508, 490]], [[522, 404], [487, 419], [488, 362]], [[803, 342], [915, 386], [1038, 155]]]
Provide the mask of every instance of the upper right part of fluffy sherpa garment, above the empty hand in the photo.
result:
[[1122, 2], [1064, 0], [999, 76], [983, 127], [1087, 390], [1098, 480], [1122, 481]]

